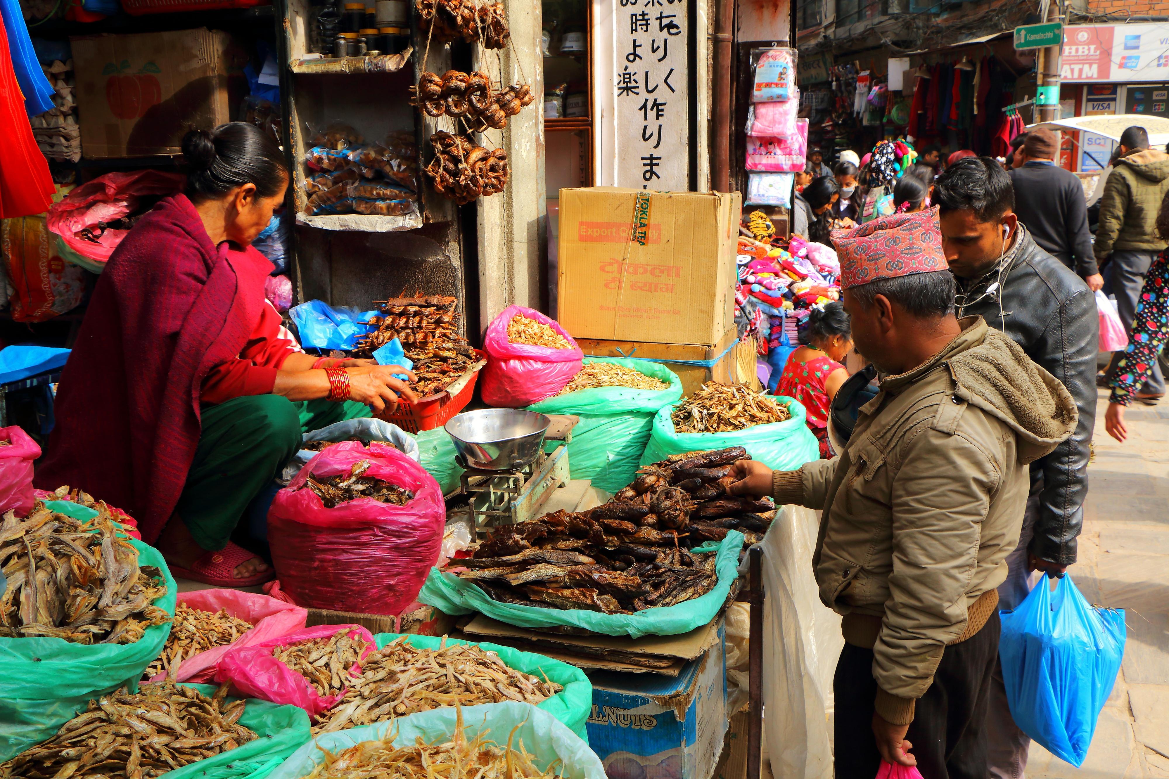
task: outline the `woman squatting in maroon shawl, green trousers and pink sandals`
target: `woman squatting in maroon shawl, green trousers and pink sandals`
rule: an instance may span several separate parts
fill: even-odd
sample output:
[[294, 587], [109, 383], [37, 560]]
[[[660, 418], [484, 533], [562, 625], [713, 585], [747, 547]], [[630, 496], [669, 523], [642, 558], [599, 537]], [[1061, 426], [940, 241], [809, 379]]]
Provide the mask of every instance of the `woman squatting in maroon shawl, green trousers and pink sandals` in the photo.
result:
[[138, 220], [98, 280], [35, 482], [126, 510], [175, 577], [254, 586], [274, 573], [229, 539], [302, 434], [416, 398], [399, 366], [279, 338], [272, 263], [251, 247], [284, 201], [279, 147], [233, 122], [188, 132], [182, 154], [185, 192]]

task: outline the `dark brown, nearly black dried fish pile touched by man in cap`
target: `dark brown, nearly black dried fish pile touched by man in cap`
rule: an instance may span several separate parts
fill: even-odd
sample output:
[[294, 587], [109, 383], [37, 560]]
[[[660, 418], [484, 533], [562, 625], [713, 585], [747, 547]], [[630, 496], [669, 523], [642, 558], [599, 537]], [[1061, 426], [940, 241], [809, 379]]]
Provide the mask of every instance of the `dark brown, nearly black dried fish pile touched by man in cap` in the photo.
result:
[[704, 595], [718, 581], [717, 553], [686, 547], [731, 530], [755, 543], [772, 522], [769, 501], [726, 495], [733, 463], [748, 457], [732, 447], [645, 466], [592, 511], [497, 528], [457, 575], [500, 602], [606, 614]]

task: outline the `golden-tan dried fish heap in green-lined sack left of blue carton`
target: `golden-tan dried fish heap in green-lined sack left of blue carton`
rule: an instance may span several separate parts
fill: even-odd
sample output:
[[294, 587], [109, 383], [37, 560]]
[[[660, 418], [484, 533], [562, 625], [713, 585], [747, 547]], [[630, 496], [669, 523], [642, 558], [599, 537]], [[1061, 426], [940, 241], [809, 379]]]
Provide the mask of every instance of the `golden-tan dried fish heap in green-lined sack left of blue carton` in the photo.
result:
[[499, 655], [445, 637], [438, 649], [397, 639], [361, 661], [361, 678], [320, 716], [313, 733], [369, 725], [440, 706], [478, 703], [540, 703], [563, 688], [509, 668]]

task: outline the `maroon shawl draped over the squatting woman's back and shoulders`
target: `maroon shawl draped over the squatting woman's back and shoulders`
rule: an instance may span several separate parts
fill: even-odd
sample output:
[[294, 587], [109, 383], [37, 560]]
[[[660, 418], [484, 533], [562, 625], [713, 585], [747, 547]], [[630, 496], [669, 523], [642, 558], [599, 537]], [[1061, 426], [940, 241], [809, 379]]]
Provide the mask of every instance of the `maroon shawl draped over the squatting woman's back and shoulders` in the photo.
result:
[[203, 377], [240, 353], [263, 305], [264, 270], [227, 248], [185, 195], [159, 202], [106, 263], [61, 374], [35, 484], [126, 510], [147, 543], [187, 480]]

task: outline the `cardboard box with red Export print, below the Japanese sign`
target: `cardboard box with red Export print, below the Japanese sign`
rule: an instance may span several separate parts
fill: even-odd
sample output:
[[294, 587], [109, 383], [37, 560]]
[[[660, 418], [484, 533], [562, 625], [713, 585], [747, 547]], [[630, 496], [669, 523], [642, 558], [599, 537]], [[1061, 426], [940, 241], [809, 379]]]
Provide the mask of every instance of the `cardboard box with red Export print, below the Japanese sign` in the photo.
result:
[[734, 326], [739, 193], [560, 191], [558, 313], [577, 340], [714, 346]]

